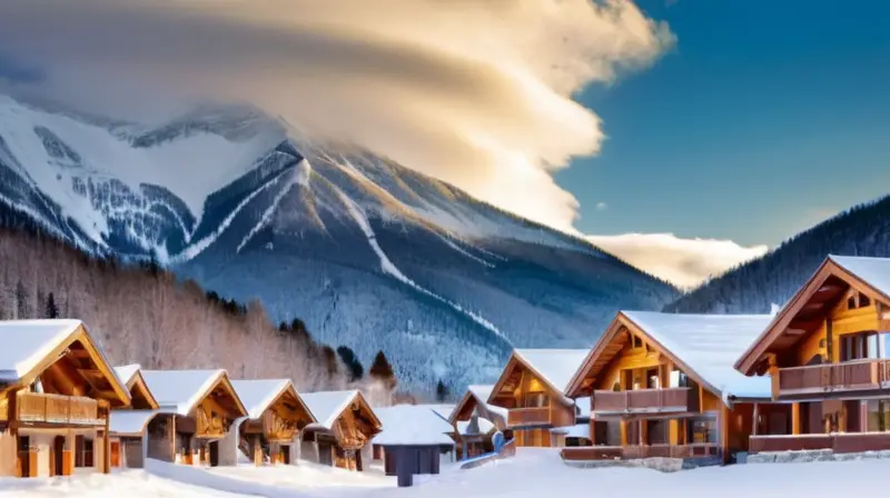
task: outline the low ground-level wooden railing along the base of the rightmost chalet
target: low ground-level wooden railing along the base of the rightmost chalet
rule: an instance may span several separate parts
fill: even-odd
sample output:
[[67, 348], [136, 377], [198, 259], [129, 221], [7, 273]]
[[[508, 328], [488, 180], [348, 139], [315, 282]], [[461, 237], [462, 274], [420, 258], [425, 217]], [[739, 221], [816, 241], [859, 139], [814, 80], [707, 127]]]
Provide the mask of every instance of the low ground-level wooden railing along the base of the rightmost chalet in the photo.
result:
[[890, 450], [890, 432], [751, 436], [750, 452], [830, 449], [835, 454]]

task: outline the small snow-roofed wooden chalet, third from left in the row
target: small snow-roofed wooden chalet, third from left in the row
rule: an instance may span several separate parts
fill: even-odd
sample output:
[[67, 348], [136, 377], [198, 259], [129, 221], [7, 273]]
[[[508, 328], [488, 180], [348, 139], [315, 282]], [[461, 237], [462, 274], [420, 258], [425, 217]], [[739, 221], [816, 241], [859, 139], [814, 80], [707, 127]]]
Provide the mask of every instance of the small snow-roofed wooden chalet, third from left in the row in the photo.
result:
[[220, 440], [247, 409], [226, 370], [142, 370], [159, 405], [148, 422], [149, 458], [195, 466], [235, 465]]

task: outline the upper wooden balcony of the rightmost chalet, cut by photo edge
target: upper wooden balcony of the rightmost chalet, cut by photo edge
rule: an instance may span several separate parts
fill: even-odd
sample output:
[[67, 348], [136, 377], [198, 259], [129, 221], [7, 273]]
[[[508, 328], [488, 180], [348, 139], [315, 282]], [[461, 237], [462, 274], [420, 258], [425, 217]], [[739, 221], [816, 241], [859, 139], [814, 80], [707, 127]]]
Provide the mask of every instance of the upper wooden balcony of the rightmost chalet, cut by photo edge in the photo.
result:
[[773, 380], [779, 398], [869, 391], [890, 382], [890, 360], [859, 360], [779, 369]]

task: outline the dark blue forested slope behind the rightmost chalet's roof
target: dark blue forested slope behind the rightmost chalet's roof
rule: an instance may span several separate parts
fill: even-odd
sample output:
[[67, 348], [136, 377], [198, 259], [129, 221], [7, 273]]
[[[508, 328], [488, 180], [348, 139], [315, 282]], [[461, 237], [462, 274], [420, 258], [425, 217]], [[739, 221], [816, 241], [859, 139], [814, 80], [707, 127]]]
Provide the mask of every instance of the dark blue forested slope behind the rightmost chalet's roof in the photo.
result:
[[890, 257], [890, 197], [857, 206], [669, 305], [675, 312], [769, 312], [828, 255]]

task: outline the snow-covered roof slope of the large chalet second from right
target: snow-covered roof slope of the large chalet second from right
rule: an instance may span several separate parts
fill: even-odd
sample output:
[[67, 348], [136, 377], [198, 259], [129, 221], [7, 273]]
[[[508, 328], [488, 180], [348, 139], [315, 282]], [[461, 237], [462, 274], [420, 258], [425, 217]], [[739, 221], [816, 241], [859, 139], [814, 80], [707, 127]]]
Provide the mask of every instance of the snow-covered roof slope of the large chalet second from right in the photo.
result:
[[769, 315], [679, 315], [622, 311], [723, 397], [769, 398], [770, 377], [748, 377], [735, 360], [772, 320]]

